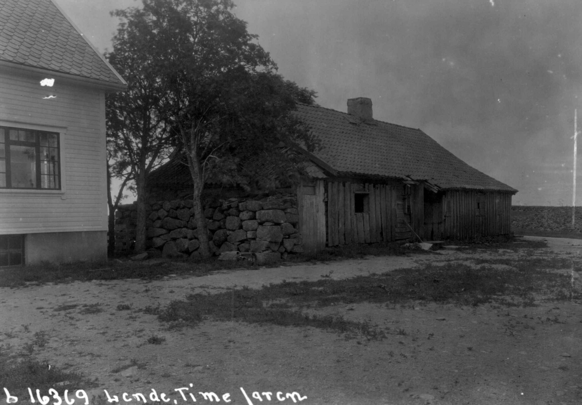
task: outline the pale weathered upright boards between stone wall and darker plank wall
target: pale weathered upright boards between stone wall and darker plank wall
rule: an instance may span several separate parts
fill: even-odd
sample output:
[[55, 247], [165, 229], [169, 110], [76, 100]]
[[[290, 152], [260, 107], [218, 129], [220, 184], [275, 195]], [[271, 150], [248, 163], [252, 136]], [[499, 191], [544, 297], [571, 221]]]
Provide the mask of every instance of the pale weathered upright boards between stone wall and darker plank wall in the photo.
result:
[[325, 247], [324, 180], [314, 180], [297, 187], [299, 232], [306, 252]]

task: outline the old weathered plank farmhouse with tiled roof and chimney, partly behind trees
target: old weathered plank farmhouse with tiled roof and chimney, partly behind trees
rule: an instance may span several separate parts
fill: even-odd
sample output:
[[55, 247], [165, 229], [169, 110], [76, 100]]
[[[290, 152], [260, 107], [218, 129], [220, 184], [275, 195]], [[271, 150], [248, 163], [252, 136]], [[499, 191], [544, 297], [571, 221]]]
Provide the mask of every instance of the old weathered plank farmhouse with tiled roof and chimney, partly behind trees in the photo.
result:
[[[375, 120], [369, 98], [347, 113], [299, 105], [324, 146], [296, 187], [306, 251], [403, 239], [467, 240], [510, 232], [517, 190], [469, 166], [420, 129]], [[176, 159], [148, 179], [157, 196], [190, 190]], [[159, 199], [159, 198], [158, 198]]]

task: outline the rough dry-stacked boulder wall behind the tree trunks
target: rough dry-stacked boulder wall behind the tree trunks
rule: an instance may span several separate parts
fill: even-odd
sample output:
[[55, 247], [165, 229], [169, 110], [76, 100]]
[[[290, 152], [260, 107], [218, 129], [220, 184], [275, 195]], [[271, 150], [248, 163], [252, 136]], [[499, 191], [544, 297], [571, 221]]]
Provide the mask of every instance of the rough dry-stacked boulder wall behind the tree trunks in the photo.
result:
[[[158, 201], [146, 207], [147, 247], [164, 257], [200, 256], [198, 229], [192, 200]], [[134, 229], [136, 204], [120, 205], [116, 225]], [[285, 258], [301, 253], [297, 199], [282, 193], [261, 199], [229, 198], [209, 202], [204, 209], [210, 249], [218, 255], [226, 251], [268, 253]]]

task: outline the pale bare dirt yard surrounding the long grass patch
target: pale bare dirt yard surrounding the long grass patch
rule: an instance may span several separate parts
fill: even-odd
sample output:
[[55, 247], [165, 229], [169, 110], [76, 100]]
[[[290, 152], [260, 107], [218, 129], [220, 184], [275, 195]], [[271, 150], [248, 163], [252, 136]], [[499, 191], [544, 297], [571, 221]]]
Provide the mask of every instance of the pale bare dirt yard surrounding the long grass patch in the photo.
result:
[[[582, 240], [546, 239], [549, 249], [538, 253], [552, 250], [572, 257], [582, 250]], [[164, 308], [193, 292], [260, 287], [284, 279], [318, 280], [322, 275], [339, 279], [475, 255], [531, 254], [451, 251], [155, 281], [1, 288], [0, 344], [22, 350], [35, 339], [44, 340], [44, 346], [34, 346], [37, 358], [96, 379], [97, 388], [79, 388], [101, 398], [107, 390], [109, 396], [118, 395], [120, 403], [137, 402], [131, 397], [134, 393], [143, 393], [151, 403], [154, 389], [175, 405], [194, 403], [190, 393], [197, 403], [211, 402], [201, 392], [214, 392], [221, 403], [231, 404], [281, 399], [293, 403], [298, 395], [286, 396], [293, 392], [303, 404], [579, 404], [582, 308], [577, 302], [528, 308], [349, 304], [319, 311], [378, 324], [388, 333], [381, 341], [242, 322], [205, 321], [195, 328], [169, 331], [156, 315], [140, 311], [158, 304]], [[100, 305], [83, 307], [91, 304]], [[119, 311], [120, 304], [130, 309]], [[165, 340], [148, 344], [152, 336]], [[126, 400], [124, 392], [129, 395]], [[229, 397], [223, 397], [227, 393]], [[0, 401], [5, 401], [2, 392]]]

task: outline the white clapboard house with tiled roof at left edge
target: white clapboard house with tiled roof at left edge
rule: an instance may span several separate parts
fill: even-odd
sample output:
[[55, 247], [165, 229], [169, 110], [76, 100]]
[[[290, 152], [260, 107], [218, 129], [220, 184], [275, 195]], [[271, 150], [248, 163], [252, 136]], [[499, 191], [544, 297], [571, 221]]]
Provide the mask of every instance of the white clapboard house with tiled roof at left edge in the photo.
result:
[[52, 0], [0, 0], [0, 267], [107, 258], [105, 94], [125, 81]]

